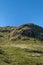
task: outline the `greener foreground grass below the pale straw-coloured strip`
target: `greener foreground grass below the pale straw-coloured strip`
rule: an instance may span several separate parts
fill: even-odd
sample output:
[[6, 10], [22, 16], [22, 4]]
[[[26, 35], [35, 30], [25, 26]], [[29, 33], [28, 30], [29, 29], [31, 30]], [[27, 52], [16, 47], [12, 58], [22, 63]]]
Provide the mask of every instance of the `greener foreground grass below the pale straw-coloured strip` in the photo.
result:
[[[10, 65], [43, 65], [43, 55], [40, 53], [31, 52], [32, 49], [21, 49], [19, 47], [2, 47], [2, 49], [6, 53], [5, 55], [3, 55], [3, 57], [5, 59], [6, 56], [7, 61], [10, 61]], [[0, 60], [1, 59], [2, 58], [0, 58]], [[0, 62], [2, 64], [2, 60]], [[9, 64], [5, 61], [3, 62], [5, 63], [5, 65]]]

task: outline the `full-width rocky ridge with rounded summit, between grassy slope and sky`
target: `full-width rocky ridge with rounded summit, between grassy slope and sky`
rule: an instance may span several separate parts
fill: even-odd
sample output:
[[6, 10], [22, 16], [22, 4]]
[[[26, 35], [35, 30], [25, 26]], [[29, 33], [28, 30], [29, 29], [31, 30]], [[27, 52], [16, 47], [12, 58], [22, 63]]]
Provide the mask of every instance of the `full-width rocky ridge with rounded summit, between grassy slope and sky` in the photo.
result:
[[32, 23], [18, 27], [0, 27], [0, 40], [26, 40], [29, 37], [43, 40], [43, 28]]

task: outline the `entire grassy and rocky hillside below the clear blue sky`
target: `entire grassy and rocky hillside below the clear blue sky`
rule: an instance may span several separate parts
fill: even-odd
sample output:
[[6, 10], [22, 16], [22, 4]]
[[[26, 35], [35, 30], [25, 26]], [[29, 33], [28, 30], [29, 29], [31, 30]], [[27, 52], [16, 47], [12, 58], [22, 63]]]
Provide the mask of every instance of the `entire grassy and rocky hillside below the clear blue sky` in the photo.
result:
[[0, 27], [0, 65], [43, 65], [43, 28]]

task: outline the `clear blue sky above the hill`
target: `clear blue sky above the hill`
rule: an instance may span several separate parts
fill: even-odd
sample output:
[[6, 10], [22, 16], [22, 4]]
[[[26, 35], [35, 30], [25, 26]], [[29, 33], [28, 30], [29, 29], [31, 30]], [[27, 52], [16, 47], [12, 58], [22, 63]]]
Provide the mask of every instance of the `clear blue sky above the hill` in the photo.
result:
[[43, 0], [0, 0], [0, 26], [43, 26]]

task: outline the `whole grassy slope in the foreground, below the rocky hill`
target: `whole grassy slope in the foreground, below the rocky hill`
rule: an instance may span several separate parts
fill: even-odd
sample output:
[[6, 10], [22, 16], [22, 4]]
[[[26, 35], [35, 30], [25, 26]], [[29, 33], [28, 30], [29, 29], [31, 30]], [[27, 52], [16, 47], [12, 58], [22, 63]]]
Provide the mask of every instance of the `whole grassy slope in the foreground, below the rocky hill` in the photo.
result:
[[[2, 41], [2, 44], [0, 43], [0, 48], [2, 52], [4, 51], [0, 54], [0, 65], [43, 65], [43, 54], [33, 52], [33, 50], [43, 52], [43, 41], [34, 41], [34, 38], [17, 41], [6, 40]], [[11, 46], [14, 44], [20, 45], [20, 47]], [[27, 47], [22, 48], [23, 45], [27, 45]]]

